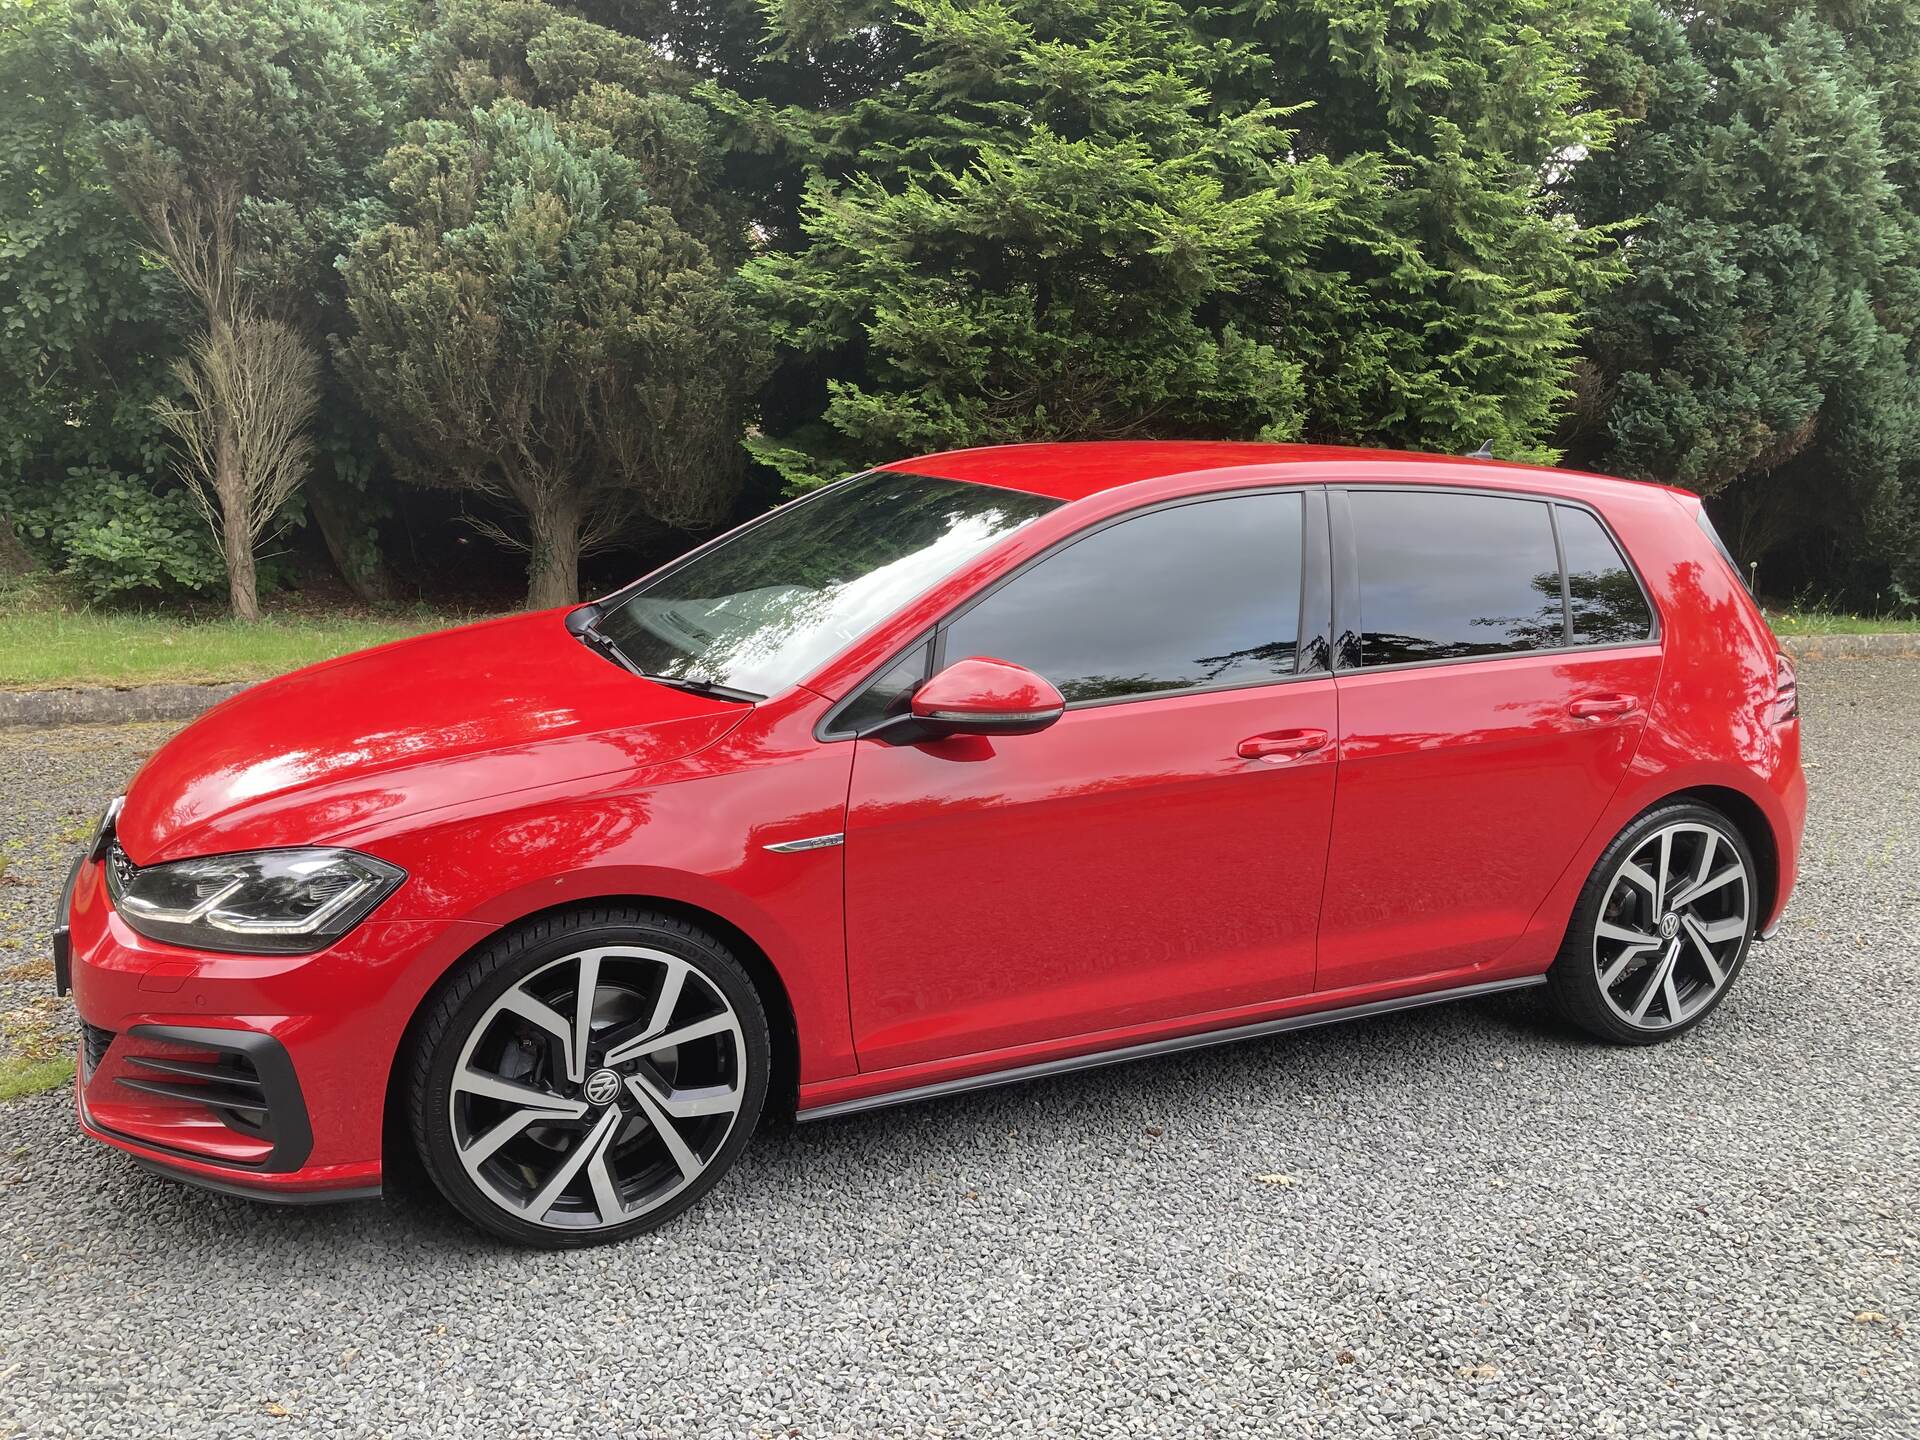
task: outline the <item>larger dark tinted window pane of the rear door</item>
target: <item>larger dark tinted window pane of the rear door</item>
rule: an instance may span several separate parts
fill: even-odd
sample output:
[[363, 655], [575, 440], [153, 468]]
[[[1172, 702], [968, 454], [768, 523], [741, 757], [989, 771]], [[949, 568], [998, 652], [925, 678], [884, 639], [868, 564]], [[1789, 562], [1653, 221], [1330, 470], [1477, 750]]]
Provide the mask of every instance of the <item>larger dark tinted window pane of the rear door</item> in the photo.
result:
[[1359, 662], [1415, 664], [1565, 643], [1553, 518], [1540, 499], [1354, 490]]

